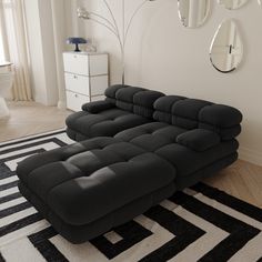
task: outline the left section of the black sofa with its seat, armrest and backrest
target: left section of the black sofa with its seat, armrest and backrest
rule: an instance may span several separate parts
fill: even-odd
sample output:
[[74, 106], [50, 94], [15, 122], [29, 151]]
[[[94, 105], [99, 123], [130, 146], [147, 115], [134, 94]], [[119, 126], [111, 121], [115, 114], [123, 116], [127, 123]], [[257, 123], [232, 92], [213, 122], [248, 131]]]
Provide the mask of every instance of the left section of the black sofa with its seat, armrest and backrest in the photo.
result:
[[77, 141], [109, 135], [153, 121], [153, 103], [163, 93], [129, 85], [112, 85], [104, 101], [82, 105], [66, 120], [68, 135]]

